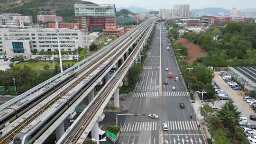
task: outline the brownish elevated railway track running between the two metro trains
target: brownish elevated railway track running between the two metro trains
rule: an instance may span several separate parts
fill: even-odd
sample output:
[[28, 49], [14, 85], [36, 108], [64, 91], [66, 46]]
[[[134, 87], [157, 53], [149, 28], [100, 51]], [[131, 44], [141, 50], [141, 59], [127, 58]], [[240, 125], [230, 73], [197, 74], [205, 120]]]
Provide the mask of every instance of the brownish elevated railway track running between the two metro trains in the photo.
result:
[[[144, 26], [144, 25], [142, 25]], [[142, 27], [141, 26], [141, 27]], [[138, 27], [137, 29], [141, 28]], [[135, 31], [136, 32], [136, 31]], [[137, 32], [136, 34], [133, 35], [139, 35], [139, 32]], [[127, 36], [126, 38], [128, 38], [129, 36]], [[129, 40], [129, 39], [128, 39]], [[121, 42], [117, 43], [116, 45], [121, 44]], [[131, 42], [130, 42], [131, 43]], [[130, 44], [129, 43], [129, 44]], [[112, 49], [109, 49], [108, 51], [106, 51], [105, 53], [109, 53]], [[122, 51], [120, 52], [122, 53]], [[85, 68], [83, 68], [82, 70], [80, 70], [78, 73], [82, 73], [84, 70], [90, 68], [93, 64], [97, 63], [98, 61], [101, 61], [101, 63], [103, 63], [105, 60], [107, 60], [109, 57], [113, 56], [114, 54], [116, 54], [116, 51], [112, 52], [111, 54], [109, 54], [109, 56], [105, 57], [106, 55], [102, 54], [99, 58], [97, 58], [97, 60], [93, 61], [92, 63], [88, 64], [88, 66], [86, 66]], [[104, 58], [103, 60], [101, 60], [102, 58]], [[9, 143], [12, 140], [12, 137], [14, 135], [16, 135], [22, 128], [24, 128], [25, 126], [27, 126], [32, 120], [34, 120], [37, 116], [39, 116], [40, 114], [42, 114], [47, 108], [51, 107], [58, 99], [60, 99], [62, 96], [64, 96], [68, 91], [70, 91], [74, 86], [76, 86], [78, 83], [80, 83], [84, 78], [86, 78], [88, 75], [91, 74], [91, 72], [93, 72], [95, 69], [98, 68], [99, 65], [101, 65], [101, 63], [98, 63], [96, 66], [94, 66], [89, 72], [86, 72], [81, 78], [78, 79], [78, 81], [74, 82], [73, 84], [71, 84], [66, 90], [62, 91], [57, 97], [55, 97], [54, 99], [52, 99], [50, 102], [48, 102], [45, 106], [43, 106], [42, 108], [38, 109], [37, 112], [35, 112], [33, 115], [31, 115], [30, 117], [28, 117], [26, 119], [25, 122], [22, 122], [20, 125], [16, 126], [15, 130], [9, 132], [7, 135], [1, 137], [0, 139], [0, 144], [6, 144]]]

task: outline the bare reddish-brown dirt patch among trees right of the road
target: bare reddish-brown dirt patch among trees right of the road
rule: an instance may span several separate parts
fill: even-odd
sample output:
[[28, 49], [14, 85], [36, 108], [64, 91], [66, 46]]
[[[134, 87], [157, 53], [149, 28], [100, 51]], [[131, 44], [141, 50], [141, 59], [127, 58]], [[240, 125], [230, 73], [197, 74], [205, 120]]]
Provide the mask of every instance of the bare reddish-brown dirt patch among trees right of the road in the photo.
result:
[[197, 57], [204, 57], [207, 55], [200, 45], [195, 45], [188, 39], [180, 38], [178, 42], [188, 49], [188, 55], [186, 56], [186, 62], [188, 63], [193, 62]]

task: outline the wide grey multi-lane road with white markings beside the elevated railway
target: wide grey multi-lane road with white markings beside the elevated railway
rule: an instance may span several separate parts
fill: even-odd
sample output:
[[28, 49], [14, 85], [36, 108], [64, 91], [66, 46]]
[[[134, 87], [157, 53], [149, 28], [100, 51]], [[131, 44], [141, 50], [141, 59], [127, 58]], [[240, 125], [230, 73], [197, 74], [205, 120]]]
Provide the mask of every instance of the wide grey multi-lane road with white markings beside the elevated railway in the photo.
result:
[[[137, 83], [132, 104], [128, 108], [128, 113], [158, 114], [159, 119], [126, 117], [118, 144], [206, 144], [194, 117], [175, 56], [171, 55], [174, 53], [168, 45], [170, 42], [168, 38], [165, 40], [164, 27], [163, 23], [156, 25], [142, 78]], [[171, 50], [167, 51], [167, 47]], [[166, 68], [169, 71], [165, 71]], [[173, 79], [168, 78], [169, 72], [173, 72]], [[175, 77], [179, 77], [179, 80], [174, 81]], [[164, 81], [168, 84], [165, 85]], [[173, 86], [176, 90], [172, 90]], [[180, 108], [180, 102], [184, 103], [184, 109]], [[163, 130], [163, 123], [167, 124], [168, 131]]]

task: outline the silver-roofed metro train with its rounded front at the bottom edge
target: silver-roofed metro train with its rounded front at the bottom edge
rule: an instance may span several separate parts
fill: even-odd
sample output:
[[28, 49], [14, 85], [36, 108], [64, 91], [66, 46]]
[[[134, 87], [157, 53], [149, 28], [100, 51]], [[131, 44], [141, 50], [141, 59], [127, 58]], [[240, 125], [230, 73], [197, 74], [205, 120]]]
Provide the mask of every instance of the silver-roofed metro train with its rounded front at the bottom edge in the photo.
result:
[[[94, 81], [101, 76], [102, 73], [106, 71], [106, 69], [110, 67], [112, 63], [112, 59], [107, 59], [94, 71], [95, 73], [88, 75], [75, 85], [72, 90], [47, 108], [42, 114], [40, 114], [40, 116], [31, 121], [29, 125], [14, 136], [13, 144], [32, 144], [46, 131], [49, 126], [55, 122], [58, 117], [62, 115], [62, 113], [64, 113], [67, 108], [69, 108], [70, 105], [73, 104], [76, 99], [78, 99], [80, 95], [82, 95], [84, 91], [91, 86]], [[58, 94], [59, 93], [56, 95]]]

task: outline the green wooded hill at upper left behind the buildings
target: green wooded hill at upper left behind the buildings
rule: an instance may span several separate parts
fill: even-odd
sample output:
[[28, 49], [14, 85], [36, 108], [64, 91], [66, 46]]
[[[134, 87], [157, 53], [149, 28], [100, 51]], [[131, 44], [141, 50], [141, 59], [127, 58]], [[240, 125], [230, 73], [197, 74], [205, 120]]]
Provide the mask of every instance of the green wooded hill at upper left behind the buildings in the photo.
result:
[[56, 14], [63, 16], [64, 22], [76, 22], [75, 3], [94, 4], [81, 0], [0, 0], [0, 13], [32, 15], [34, 21], [38, 14]]

